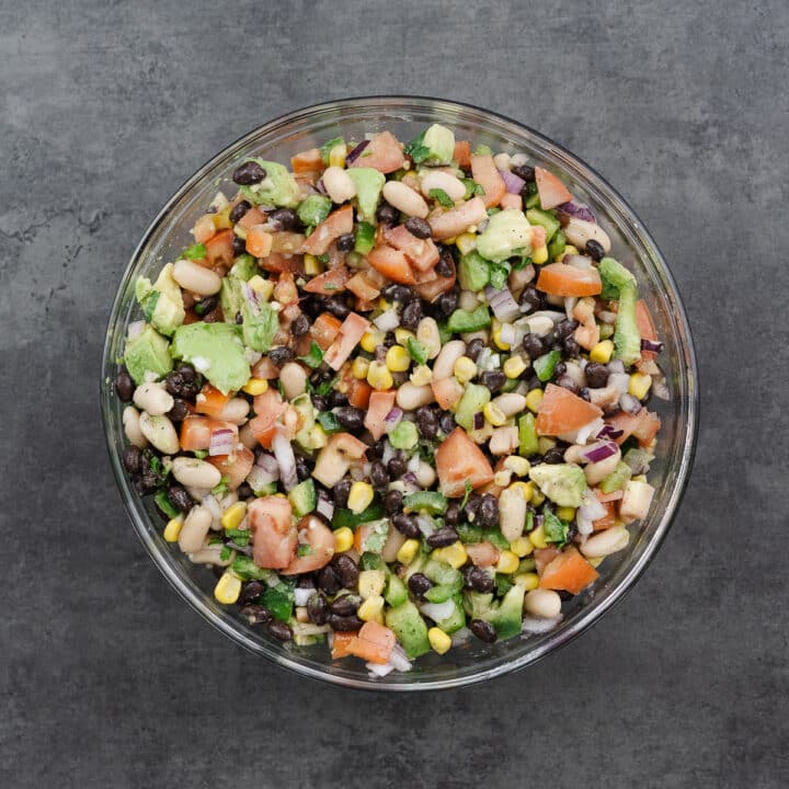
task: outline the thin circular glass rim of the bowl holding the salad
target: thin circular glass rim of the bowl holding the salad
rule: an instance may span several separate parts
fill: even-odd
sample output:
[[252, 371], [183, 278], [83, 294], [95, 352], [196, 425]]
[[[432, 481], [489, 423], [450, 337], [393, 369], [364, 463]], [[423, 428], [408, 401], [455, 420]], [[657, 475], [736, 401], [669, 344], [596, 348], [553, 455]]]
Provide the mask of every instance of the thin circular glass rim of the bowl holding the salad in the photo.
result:
[[[621, 578], [619, 583], [614, 587], [610, 593], [599, 603], [591, 607], [591, 610], [588, 613], [584, 614], [583, 611], [580, 611], [579, 615], [575, 617], [571, 626], [567, 628], [562, 628], [558, 634], [553, 638], [553, 640], [549, 643], [540, 645], [536, 650], [531, 650], [528, 652], [525, 652], [524, 654], [519, 655], [516, 659], [513, 659], [511, 661], [503, 661], [500, 664], [482, 670], [476, 673], [468, 673], [460, 676], [448, 676], [446, 678], [435, 678], [435, 679], [419, 679], [415, 682], [398, 682], [392, 683], [388, 682], [387, 677], [379, 677], [375, 681], [370, 678], [364, 678], [364, 676], [359, 673], [358, 677], [351, 677], [346, 675], [338, 675], [332, 674], [327, 671], [313, 668], [311, 665], [308, 665], [304, 662], [300, 662], [299, 660], [296, 660], [288, 654], [282, 654], [282, 655], [274, 655], [266, 651], [262, 651], [256, 645], [254, 645], [251, 641], [244, 640], [242, 638], [242, 634], [239, 633], [238, 630], [229, 627], [229, 625], [225, 621], [225, 619], [221, 616], [214, 615], [213, 611], [205, 605], [204, 594], [198, 593], [198, 590], [193, 586], [188, 586], [186, 583], [183, 582], [181, 578], [179, 578], [176, 574], [174, 574], [171, 570], [171, 568], [168, 565], [168, 563], [164, 560], [164, 557], [162, 552], [159, 550], [158, 546], [153, 542], [151, 536], [148, 534], [147, 529], [145, 528], [144, 524], [141, 523], [141, 515], [138, 512], [137, 508], [133, 506], [133, 498], [136, 498], [139, 500], [139, 496], [137, 496], [136, 492], [134, 492], [129, 484], [128, 480], [126, 478], [126, 474], [122, 468], [121, 465], [121, 453], [118, 450], [118, 447], [116, 446], [116, 443], [114, 441], [114, 437], [111, 432], [111, 425], [108, 421], [108, 410], [105, 407], [110, 405], [110, 402], [113, 400], [113, 395], [111, 393], [114, 391], [114, 387], [112, 384], [110, 384], [106, 379], [107, 371], [113, 366], [113, 363], [110, 359], [110, 354], [112, 350], [112, 341], [113, 341], [113, 331], [115, 329], [115, 325], [117, 323], [117, 318], [119, 316], [122, 302], [123, 302], [123, 295], [126, 293], [128, 288], [129, 281], [133, 276], [133, 270], [135, 266], [135, 263], [139, 260], [142, 251], [147, 247], [150, 239], [155, 236], [155, 233], [158, 231], [160, 225], [165, 220], [165, 218], [169, 216], [171, 209], [173, 206], [181, 201], [194, 186], [198, 185], [201, 181], [205, 178], [206, 173], [215, 165], [220, 162], [220, 160], [227, 159], [231, 157], [235, 152], [237, 152], [239, 149], [243, 148], [244, 145], [248, 142], [253, 141], [256, 137], [260, 135], [263, 135], [265, 133], [271, 133], [274, 129], [276, 129], [279, 126], [283, 126], [285, 124], [298, 121], [302, 116], [311, 113], [319, 113], [324, 112], [329, 110], [341, 110], [345, 106], [354, 106], [359, 105], [364, 103], [368, 104], [375, 104], [379, 103], [381, 104], [381, 108], [387, 110], [396, 110], [398, 106], [398, 103], [412, 103], [421, 105], [421, 108], [425, 111], [430, 111], [431, 108], [435, 108], [432, 105], [442, 105], [443, 108], [449, 108], [455, 111], [472, 111], [474, 113], [481, 113], [484, 116], [498, 119], [499, 122], [503, 122], [505, 124], [510, 124], [522, 132], [525, 132], [528, 136], [533, 137], [537, 142], [541, 144], [548, 149], [552, 149], [553, 151], [560, 153], [562, 157], [567, 158], [569, 161], [571, 161], [574, 165], [578, 168], [587, 171], [592, 179], [595, 181], [594, 186], [595, 188], [598, 188], [603, 191], [605, 194], [605, 198], [610, 202], [611, 206], [616, 209], [618, 209], [624, 215], [628, 216], [631, 220], [632, 227], [630, 228], [632, 232], [634, 232], [639, 239], [639, 241], [648, 249], [648, 251], [651, 253], [651, 258], [653, 259], [654, 264], [660, 270], [660, 274], [665, 281], [665, 284], [668, 286], [668, 296], [671, 297], [672, 307], [676, 310], [676, 322], [679, 327], [684, 328], [683, 336], [681, 338], [681, 357], [685, 358], [687, 369], [684, 371], [684, 375], [686, 376], [688, 384], [686, 386], [687, 389], [687, 404], [686, 404], [686, 428], [685, 428], [685, 447], [683, 449], [683, 453], [679, 457], [679, 464], [678, 464], [678, 471], [677, 477], [673, 485], [673, 490], [671, 493], [671, 498], [668, 500], [668, 503], [661, 515], [660, 522], [655, 528], [654, 534], [648, 541], [648, 544], [644, 546], [641, 554], [638, 557], [636, 562], [628, 568], [626, 571], [626, 574]], [[588, 179], [584, 175], [584, 180]], [[279, 115], [275, 118], [272, 118], [271, 121], [267, 121], [255, 128], [251, 129], [247, 134], [242, 135], [238, 139], [236, 139], [233, 142], [229, 144], [225, 148], [222, 148], [219, 152], [217, 152], [211, 158], [207, 159], [186, 181], [183, 182], [183, 184], [170, 196], [170, 198], [165, 202], [165, 204], [162, 206], [162, 208], [159, 210], [159, 213], [156, 215], [156, 217], [152, 219], [148, 228], [142, 233], [142, 237], [139, 241], [139, 243], [136, 245], [134, 252], [132, 253], [128, 263], [126, 264], [126, 268], [123, 273], [123, 276], [121, 277], [119, 284], [117, 286], [115, 297], [112, 302], [112, 307], [110, 310], [110, 315], [107, 318], [107, 324], [106, 324], [106, 331], [105, 331], [105, 341], [104, 341], [104, 347], [102, 353], [102, 374], [100, 376], [100, 405], [102, 409], [102, 421], [104, 425], [104, 437], [106, 442], [107, 453], [110, 455], [110, 461], [111, 466], [113, 467], [113, 472], [115, 474], [115, 481], [118, 487], [118, 492], [122, 494], [122, 500], [124, 507], [126, 510], [126, 513], [132, 521], [132, 525], [134, 527], [134, 530], [137, 534], [137, 537], [142, 542], [144, 547], [146, 548], [147, 552], [156, 563], [156, 565], [159, 568], [160, 572], [167, 578], [169, 583], [172, 585], [172, 587], [178, 592], [178, 594], [194, 609], [196, 610], [204, 619], [206, 619], [210, 625], [213, 625], [215, 628], [224, 632], [226, 636], [230, 638], [231, 641], [233, 641], [236, 644], [239, 644], [240, 647], [244, 648], [247, 651], [254, 653], [255, 655], [262, 655], [266, 660], [268, 660], [271, 663], [274, 663], [278, 666], [282, 666], [284, 668], [287, 668], [288, 671], [291, 671], [299, 676], [307, 676], [311, 679], [319, 679], [321, 682], [327, 682], [332, 685], [340, 685], [343, 687], [351, 687], [355, 689], [361, 690], [371, 690], [371, 691], [378, 691], [378, 690], [396, 690], [396, 691], [414, 691], [414, 690], [437, 690], [437, 689], [448, 689], [448, 688], [457, 688], [462, 687], [467, 685], [474, 685], [481, 682], [485, 682], [488, 679], [492, 679], [499, 676], [504, 676], [506, 674], [510, 674], [515, 671], [519, 671], [522, 668], [525, 668], [527, 665], [531, 665], [536, 663], [537, 661], [541, 660], [542, 658], [547, 656], [548, 654], [551, 654], [562, 647], [569, 644], [571, 641], [575, 640], [579, 636], [584, 633], [588, 628], [594, 625], [595, 622], [599, 621], [599, 619], [605, 616], [617, 603], [619, 603], [628, 592], [634, 586], [636, 582], [641, 578], [645, 569], [649, 567], [649, 564], [654, 559], [654, 556], [656, 554], [658, 550], [660, 549], [661, 545], [663, 544], [663, 540], [665, 539], [673, 522], [676, 516], [676, 513], [679, 508], [679, 505], [682, 504], [682, 500], [685, 495], [685, 492], [687, 490], [687, 483], [688, 479], [690, 477], [690, 472], [693, 470], [693, 465], [696, 456], [696, 447], [698, 443], [698, 422], [699, 422], [699, 377], [698, 377], [698, 365], [696, 359], [696, 351], [693, 340], [693, 331], [690, 328], [690, 322], [687, 317], [687, 312], [685, 310], [685, 306], [682, 300], [682, 296], [679, 294], [679, 290], [676, 286], [676, 282], [674, 279], [674, 276], [662, 254], [660, 251], [660, 248], [655, 243], [654, 239], [650, 235], [650, 232], [647, 230], [645, 226], [639, 218], [639, 216], [636, 214], [633, 208], [630, 206], [630, 204], [622, 197], [622, 195], [614, 187], [611, 186], [608, 181], [603, 178], [594, 168], [590, 167], [590, 164], [586, 163], [583, 159], [581, 159], [578, 155], [573, 153], [569, 149], [567, 149], [564, 146], [556, 142], [554, 140], [550, 139], [549, 137], [546, 137], [545, 135], [540, 134], [539, 132], [536, 132], [530, 126], [519, 122], [514, 121], [513, 118], [503, 115], [502, 113], [491, 111], [484, 107], [477, 106], [474, 104], [470, 104], [468, 102], [457, 101], [453, 99], [437, 99], [433, 96], [424, 96], [424, 95], [412, 95], [412, 94], [371, 94], [371, 95], [358, 95], [358, 96], [346, 96], [344, 99], [338, 99], [332, 100], [328, 102], [321, 102], [319, 104], [310, 104], [307, 106], [299, 107], [297, 110], [293, 110], [288, 113], [285, 113], [283, 115]]]

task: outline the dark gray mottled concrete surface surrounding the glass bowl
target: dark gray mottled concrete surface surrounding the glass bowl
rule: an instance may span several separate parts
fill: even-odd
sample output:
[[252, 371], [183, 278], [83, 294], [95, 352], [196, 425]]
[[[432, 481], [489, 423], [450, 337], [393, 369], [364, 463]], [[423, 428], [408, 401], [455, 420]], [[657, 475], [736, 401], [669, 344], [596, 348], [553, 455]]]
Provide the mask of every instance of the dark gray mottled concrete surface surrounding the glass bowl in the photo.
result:
[[[0, 2], [0, 786], [787, 786], [787, 42], [779, 0]], [[704, 390], [682, 513], [627, 601], [533, 668], [409, 698], [283, 673], [184, 606], [96, 402], [116, 283], [195, 167], [399, 91], [522, 119], [618, 185]]]

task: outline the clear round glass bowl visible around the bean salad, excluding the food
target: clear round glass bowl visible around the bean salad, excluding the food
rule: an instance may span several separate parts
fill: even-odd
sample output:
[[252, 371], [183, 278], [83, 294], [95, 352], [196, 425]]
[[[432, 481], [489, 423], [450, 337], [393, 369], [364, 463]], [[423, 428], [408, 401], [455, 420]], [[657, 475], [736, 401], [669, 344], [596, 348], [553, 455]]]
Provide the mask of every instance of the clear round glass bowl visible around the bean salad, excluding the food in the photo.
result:
[[[297, 151], [332, 137], [363, 139], [368, 132], [384, 129], [409, 140], [431, 123], [454, 128], [458, 139], [471, 139], [472, 145], [484, 142], [494, 151], [511, 153], [525, 151], [535, 162], [560, 172], [576, 198], [593, 207], [611, 237], [611, 253], [634, 272], [650, 305], [665, 343], [660, 363], [671, 398], [653, 399], [651, 405], [663, 421], [651, 473], [656, 488], [651, 513], [632, 527], [629, 548], [601, 565], [598, 581], [565, 604], [564, 619], [554, 630], [493, 645], [471, 638], [443, 656], [431, 653], [421, 658], [409, 673], [371, 679], [362, 661], [332, 662], [325, 644], [282, 644], [248, 627], [233, 608], [215, 602], [211, 571], [193, 565], [178, 547], [164, 542], [161, 518], [152, 503], [137, 495], [122, 468], [122, 403], [115, 396], [113, 379], [126, 327], [140, 317], [134, 297], [137, 277], [153, 277], [191, 243], [188, 230], [217, 190], [225, 188], [227, 195], [235, 192], [230, 175], [240, 159], [261, 156], [287, 162]], [[581, 633], [622, 597], [654, 556], [679, 504], [696, 442], [697, 370], [690, 329], [668, 267], [639, 218], [596, 172], [556, 142], [495, 113], [434, 99], [348, 99], [300, 110], [251, 132], [204, 164], [162, 208], [132, 255], [113, 302], [102, 364], [101, 405], [115, 477], [137, 535], [170, 583], [211, 625], [248, 650], [300, 674], [352, 687], [414, 690], [479, 683], [523, 668]]]

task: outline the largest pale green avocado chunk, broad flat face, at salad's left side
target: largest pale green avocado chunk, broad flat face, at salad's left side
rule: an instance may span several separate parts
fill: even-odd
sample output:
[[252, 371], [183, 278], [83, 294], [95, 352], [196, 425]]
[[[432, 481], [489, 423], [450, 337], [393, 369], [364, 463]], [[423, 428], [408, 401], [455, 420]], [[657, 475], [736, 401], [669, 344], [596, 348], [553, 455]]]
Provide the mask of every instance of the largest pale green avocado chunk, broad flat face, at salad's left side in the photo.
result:
[[171, 353], [188, 362], [224, 395], [240, 389], [250, 366], [238, 328], [229, 323], [190, 323], [175, 330]]

